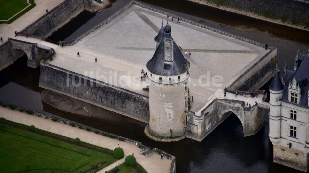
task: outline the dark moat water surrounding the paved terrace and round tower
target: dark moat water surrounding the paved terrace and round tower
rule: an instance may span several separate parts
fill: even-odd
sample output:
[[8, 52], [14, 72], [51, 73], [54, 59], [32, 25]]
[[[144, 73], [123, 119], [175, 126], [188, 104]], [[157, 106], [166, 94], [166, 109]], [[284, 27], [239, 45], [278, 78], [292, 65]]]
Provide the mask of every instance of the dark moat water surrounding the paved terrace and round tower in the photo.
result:
[[[68, 29], [69, 27], [66, 28], [65, 26], [65, 29], [60, 29], [58, 34], [55, 33], [56, 35], [50, 38], [56, 41], [76, 38], [126, 5], [129, 0], [112, 2], [110, 8], [101, 10], [100, 13], [81, 14], [78, 20], [72, 20], [71, 22], [71, 24], [76, 24], [76, 28]], [[203, 20], [205, 22], [202, 22], [202, 24], [232, 34], [277, 46], [281, 69], [285, 62], [290, 67], [293, 67], [297, 49], [307, 52], [306, 49], [309, 48], [309, 32], [307, 31], [276, 25], [183, 0], [171, 0], [168, 4], [163, 0], [156, 0], [155, 2], [143, 0], [142, 2], [150, 3], [151, 6], [196, 22]], [[143, 133], [146, 123], [111, 111], [105, 111], [105, 114], [113, 116], [112, 120], [83, 117], [57, 110], [57, 108], [42, 103], [40, 92], [44, 89], [38, 87], [40, 69], [29, 68], [26, 64], [27, 58], [24, 56], [0, 72], [0, 101], [72, 119], [116, 135], [140, 141], [150, 147], [160, 148], [176, 156], [176, 170], [178, 173], [300, 172], [273, 163], [273, 147], [268, 138], [267, 113], [265, 113], [265, 121], [267, 121], [265, 126], [254, 136], [243, 137], [242, 125], [239, 119], [232, 114], [202, 142], [192, 141], [191, 139], [173, 143], [154, 142]], [[267, 82], [262, 89], [267, 89], [269, 84], [270, 82]]]

